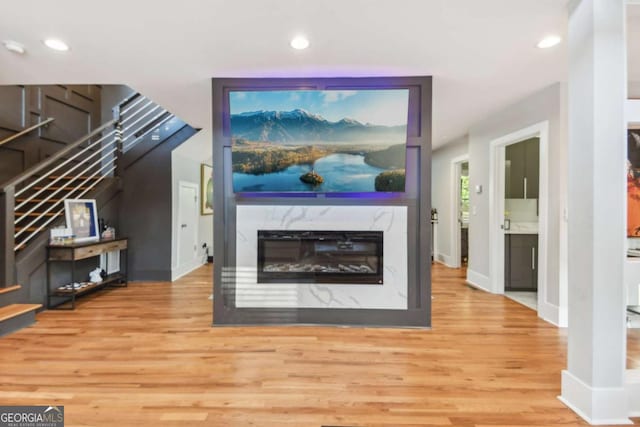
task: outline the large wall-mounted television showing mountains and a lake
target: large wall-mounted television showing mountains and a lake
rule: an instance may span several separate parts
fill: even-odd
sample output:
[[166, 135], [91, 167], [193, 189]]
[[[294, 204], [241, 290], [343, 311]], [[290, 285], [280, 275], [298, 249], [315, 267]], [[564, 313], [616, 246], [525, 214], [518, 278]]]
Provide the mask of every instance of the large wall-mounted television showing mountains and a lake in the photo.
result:
[[409, 90], [231, 90], [236, 193], [404, 192]]

